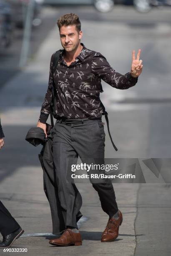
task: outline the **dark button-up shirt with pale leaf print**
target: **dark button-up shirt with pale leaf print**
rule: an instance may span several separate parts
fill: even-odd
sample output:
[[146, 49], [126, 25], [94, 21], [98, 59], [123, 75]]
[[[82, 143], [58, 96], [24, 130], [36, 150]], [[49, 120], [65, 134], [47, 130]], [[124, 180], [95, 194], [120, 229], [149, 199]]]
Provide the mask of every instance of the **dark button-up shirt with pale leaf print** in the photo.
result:
[[136, 84], [130, 72], [122, 75], [116, 72], [106, 58], [91, 51], [82, 44], [83, 49], [68, 67], [61, 51], [58, 65], [53, 74], [53, 55], [50, 60], [48, 90], [45, 95], [39, 121], [45, 123], [53, 100], [52, 82], [57, 93], [57, 118], [100, 118], [103, 110], [100, 106], [101, 79], [117, 89], [128, 89]]

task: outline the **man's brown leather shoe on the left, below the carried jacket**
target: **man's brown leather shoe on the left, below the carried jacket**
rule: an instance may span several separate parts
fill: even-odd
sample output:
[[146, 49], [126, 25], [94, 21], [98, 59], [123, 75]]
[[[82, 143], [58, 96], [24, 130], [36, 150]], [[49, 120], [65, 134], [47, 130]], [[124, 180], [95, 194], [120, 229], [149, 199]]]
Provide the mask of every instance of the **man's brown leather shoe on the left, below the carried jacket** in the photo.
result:
[[50, 244], [55, 246], [79, 246], [82, 245], [81, 234], [74, 233], [70, 229], [66, 229], [60, 238], [50, 239]]

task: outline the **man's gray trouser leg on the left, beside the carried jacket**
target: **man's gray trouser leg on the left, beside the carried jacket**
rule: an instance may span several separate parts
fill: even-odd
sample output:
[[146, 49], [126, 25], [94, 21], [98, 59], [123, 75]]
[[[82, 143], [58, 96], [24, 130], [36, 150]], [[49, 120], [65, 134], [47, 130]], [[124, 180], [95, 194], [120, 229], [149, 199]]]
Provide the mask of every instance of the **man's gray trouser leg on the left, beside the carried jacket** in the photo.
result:
[[[63, 125], [63, 123], [56, 123], [53, 129], [53, 161], [58, 197], [60, 205], [64, 209], [65, 225], [78, 228], [76, 215], [82, 205], [82, 198], [75, 184], [67, 180], [68, 159], [70, 159], [70, 164], [76, 164], [78, 159], [77, 152], [71, 146], [70, 127]], [[75, 205], [76, 197], [78, 200]]]

